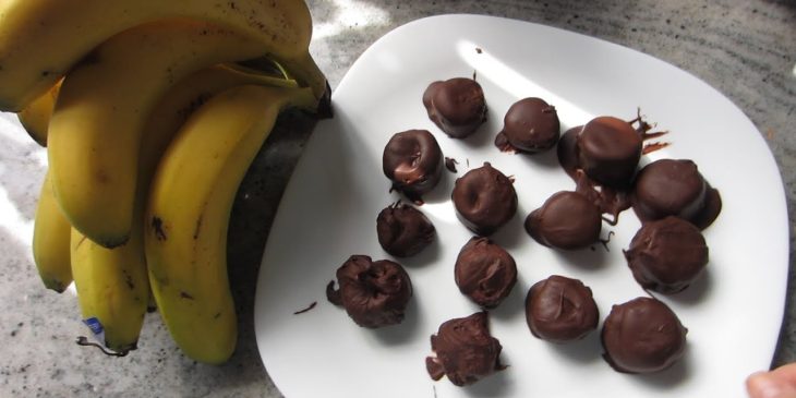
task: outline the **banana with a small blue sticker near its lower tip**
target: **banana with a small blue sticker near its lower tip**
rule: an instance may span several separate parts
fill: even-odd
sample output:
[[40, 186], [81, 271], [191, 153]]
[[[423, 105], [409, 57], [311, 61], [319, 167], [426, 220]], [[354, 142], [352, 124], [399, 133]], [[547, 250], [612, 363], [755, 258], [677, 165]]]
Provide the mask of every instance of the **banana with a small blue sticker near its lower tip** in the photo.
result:
[[71, 260], [77, 302], [95, 334], [102, 331], [105, 347], [120, 353], [136, 348], [149, 301], [142, 222], [130, 240], [106, 249], [72, 228]]

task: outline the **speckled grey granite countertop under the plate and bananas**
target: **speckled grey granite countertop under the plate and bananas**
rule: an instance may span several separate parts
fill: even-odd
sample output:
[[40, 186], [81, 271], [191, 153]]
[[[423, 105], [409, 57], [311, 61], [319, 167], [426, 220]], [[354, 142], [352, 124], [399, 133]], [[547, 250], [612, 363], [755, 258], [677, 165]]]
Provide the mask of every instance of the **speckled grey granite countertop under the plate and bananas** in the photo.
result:
[[[367, 46], [390, 29], [429, 15], [478, 13], [557, 26], [627, 46], [673, 63], [722, 92], [765, 138], [785, 184], [789, 288], [772, 364], [796, 361], [796, 309], [792, 305], [796, 282], [795, 2], [310, 0], [309, 4], [315, 22], [311, 50], [333, 88]], [[45, 290], [31, 255], [32, 219], [46, 154], [24, 132], [8, 134], [14, 120], [13, 114], [0, 114], [0, 396], [281, 397], [257, 352], [254, 284], [279, 197], [309, 134], [275, 133], [244, 181], [229, 248], [240, 339], [227, 364], [210, 366], [183, 357], [158, 316], [147, 316], [138, 350], [125, 358], [105, 357], [74, 343], [76, 336], [85, 335], [76, 298]]]

